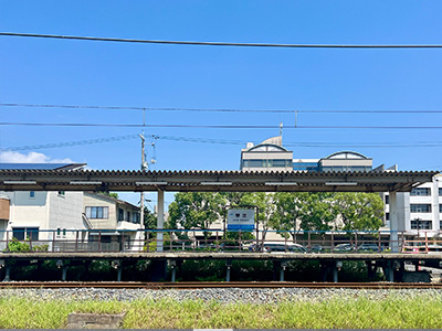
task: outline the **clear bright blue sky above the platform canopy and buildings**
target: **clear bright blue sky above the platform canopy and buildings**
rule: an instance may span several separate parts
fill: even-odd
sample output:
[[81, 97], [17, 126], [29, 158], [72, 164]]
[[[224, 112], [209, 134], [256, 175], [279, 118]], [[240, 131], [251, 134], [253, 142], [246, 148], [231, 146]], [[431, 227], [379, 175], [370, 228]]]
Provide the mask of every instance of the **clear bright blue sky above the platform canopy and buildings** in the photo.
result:
[[[0, 31], [127, 39], [261, 43], [441, 44], [433, 1], [0, 1]], [[239, 109], [440, 110], [442, 50], [246, 49], [0, 36], [0, 102]], [[136, 110], [1, 107], [6, 121], [143, 124]], [[298, 125], [435, 126], [441, 114], [299, 114]], [[293, 114], [147, 111], [148, 124], [294, 125]], [[139, 128], [1, 126], [0, 147], [137, 135]], [[146, 129], [151, 169], [239, 169], [245, 142], [277, 129]], [[373, 164], [442, 169], [441, 130], [284, 129], [294, 158], [356, 150]], [[436, 147], [352, 148], [367, 143]], [[296, 143], [335, 143], [298, 147]], [[243, 143], [243, 145], [242, 145]], [[139, 139], [21, 150], [93, 169], [138, 169]], [[152, 153], [152, 149], [148, 149]], [[15, 154], [17, 157], [17, 154]], [[3, 161], [4, 161], [3, 152]], [[9, 160], [9, 159], [8, 159]]]

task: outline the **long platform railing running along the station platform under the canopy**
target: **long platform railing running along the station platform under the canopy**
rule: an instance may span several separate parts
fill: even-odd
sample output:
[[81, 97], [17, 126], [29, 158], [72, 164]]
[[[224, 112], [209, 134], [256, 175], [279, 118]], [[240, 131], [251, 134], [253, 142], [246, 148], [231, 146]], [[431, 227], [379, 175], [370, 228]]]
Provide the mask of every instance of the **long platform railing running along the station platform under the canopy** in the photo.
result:
[[[157, 234], [162, 233], [158, 241]], [[257, 238], [256, 238], [257, 233]], [[394, 235], [393, 235], [394, 234]], [[439, 231], [39, 229], [0, 231], [3, 253], [438, 253]], [[392, 238], [397, 238], [392, 241]], [[394, 249], [396, 248], [396, 249]]]

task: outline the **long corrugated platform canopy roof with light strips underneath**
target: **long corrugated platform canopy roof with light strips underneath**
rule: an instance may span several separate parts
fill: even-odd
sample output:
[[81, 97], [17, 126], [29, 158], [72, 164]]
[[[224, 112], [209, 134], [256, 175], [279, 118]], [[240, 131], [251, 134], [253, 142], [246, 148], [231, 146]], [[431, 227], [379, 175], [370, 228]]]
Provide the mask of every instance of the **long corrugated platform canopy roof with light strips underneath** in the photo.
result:
[[0, 191], [410, 192], [436, 171], [0, 170]]

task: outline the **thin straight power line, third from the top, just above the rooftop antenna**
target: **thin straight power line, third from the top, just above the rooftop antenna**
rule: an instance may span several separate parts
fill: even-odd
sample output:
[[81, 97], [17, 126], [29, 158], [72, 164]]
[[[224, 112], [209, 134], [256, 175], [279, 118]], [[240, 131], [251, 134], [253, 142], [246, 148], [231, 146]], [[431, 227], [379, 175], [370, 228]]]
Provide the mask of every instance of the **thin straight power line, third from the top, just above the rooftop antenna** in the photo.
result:
[[[119, 128], [196, 128], [196, 129], [278, 129], [280, 126], [256, 125], [165, 125], [165, 124], [91, 124], [91, 122], [0, 122], [0, 126], [33, 127], [119, 127]], [[439, 130], [440, 126], [284, 126], [284, 129], [388, 129], [388, 130]]]

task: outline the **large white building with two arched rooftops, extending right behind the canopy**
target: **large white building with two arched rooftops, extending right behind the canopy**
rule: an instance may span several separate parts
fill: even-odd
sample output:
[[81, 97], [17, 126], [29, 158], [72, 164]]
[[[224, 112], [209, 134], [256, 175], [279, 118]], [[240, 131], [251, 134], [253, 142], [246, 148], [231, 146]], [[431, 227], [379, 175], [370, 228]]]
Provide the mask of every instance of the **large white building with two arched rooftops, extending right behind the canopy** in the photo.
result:
[[[372, 159], [355, 151], [339, 151], [322, 159], [292, 159], [293, 151], [282, 146], [282, 137], [267, 139], [256, 146], [249, 142], [241, 150], [241, 170], [293, 170], [293, 171], [398, 171], [398, 167], [385, 169], [372, 167]], [[275, 162], [275, 160], [277, 160]], [[283, 161], [281, 161], [283, 160]], [[284, 166], [283, 166], [284, 164]], [[386, 202], [385, 228], [389, 228], [389, 195], [382, 194]], [[399, 228], [409, 234], [417, 229], [432, 231], [427, 235], [441, 235], [442, 229], [442, 175], [432, 183], [414, 188], [411, 193], [397, 194]], [[422, 232], [424, 235], [424, 232]]]

